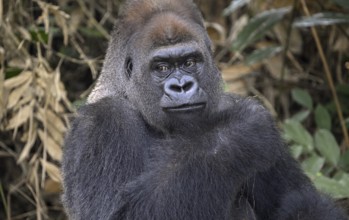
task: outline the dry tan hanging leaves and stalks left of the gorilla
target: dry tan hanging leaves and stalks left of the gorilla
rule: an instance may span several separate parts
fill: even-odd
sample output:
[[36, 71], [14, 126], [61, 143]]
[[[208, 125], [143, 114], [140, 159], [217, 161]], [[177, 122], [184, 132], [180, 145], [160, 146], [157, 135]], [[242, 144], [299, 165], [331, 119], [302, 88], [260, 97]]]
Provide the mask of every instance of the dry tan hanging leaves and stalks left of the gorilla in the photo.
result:
[[[64, 218], [55, 214], [63, 213], [59, 163], [75, 108], [61, 80], [62, 65], [87, 66], [96, 77], [100, 62], [85, 54], [79, 28], [97, 29], [105, 41], [103, 24], [114, 19], [105, 13], [97, 22], [91, 5], [75, 2], [0, 1], [1, 219], [48, 219], [52, 213]], [[115, 4], [93, 6], [105, 10]], [[56, 44], [74, 52], [64, 53]]]

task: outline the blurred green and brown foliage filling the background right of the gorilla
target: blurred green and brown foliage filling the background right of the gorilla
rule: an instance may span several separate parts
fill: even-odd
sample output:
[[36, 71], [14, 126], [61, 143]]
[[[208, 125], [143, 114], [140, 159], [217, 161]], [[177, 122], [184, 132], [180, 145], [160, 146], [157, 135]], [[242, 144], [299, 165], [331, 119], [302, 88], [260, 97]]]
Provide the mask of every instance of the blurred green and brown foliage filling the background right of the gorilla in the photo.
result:
[[[315, 186], [335, 198], [348, 198], [349, 16], [342, 6], [349, 3], [286, 2], [242, 21], [230, 43], [232, 66], [245, 62], [258, 66], [260, 74], [271, 74], [278, 93], [256, 95], [266, 96], [263, 100], [269, 107], [277, 108], [277, 101], [284, 105], [285, 112], [274, 112], [286, 118], [285, 139]], [[258, 11], [255, 7], [265, 4], [237, 0], [225, 14], [238, 13], [242, 7]], [[257, 87], [250, 92], [259, 90], [256, 81], [250, 87]]]

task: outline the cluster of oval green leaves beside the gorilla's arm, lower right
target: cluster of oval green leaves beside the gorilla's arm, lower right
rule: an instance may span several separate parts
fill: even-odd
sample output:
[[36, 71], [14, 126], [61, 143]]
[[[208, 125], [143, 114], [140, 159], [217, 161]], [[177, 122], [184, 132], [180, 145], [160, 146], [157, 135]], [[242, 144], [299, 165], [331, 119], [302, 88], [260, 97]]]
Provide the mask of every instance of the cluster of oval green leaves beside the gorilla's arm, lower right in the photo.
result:
[[[302, 110], [283, 125], [285, 139], [290, 143], [294, 157], [302, 161], [303, 169], [321, 191], [335, 198], [348, 198], [349, 151], [340, 153], [331, 132], [332, 116], [327, 105], [317, 104], [313, 108], [312, 97], [303, 89], [295, 88], [291, 94], [292, 99], [302, 106]], [[303, 125], [305, 122], [314, 123], [314, 131], [307, 130]]]

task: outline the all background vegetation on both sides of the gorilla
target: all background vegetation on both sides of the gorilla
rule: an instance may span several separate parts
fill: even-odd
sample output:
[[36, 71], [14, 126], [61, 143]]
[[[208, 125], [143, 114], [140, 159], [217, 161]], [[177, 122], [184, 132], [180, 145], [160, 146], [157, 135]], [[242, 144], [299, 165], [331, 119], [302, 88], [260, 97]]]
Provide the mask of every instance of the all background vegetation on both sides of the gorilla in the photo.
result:
[[[118, 0], [0, 0], [0, 219], [65, 219], [64, 133]], [[348, 209], [349, 1], [198, 0], [226, 90], [258, 97], [321, 191]]]

